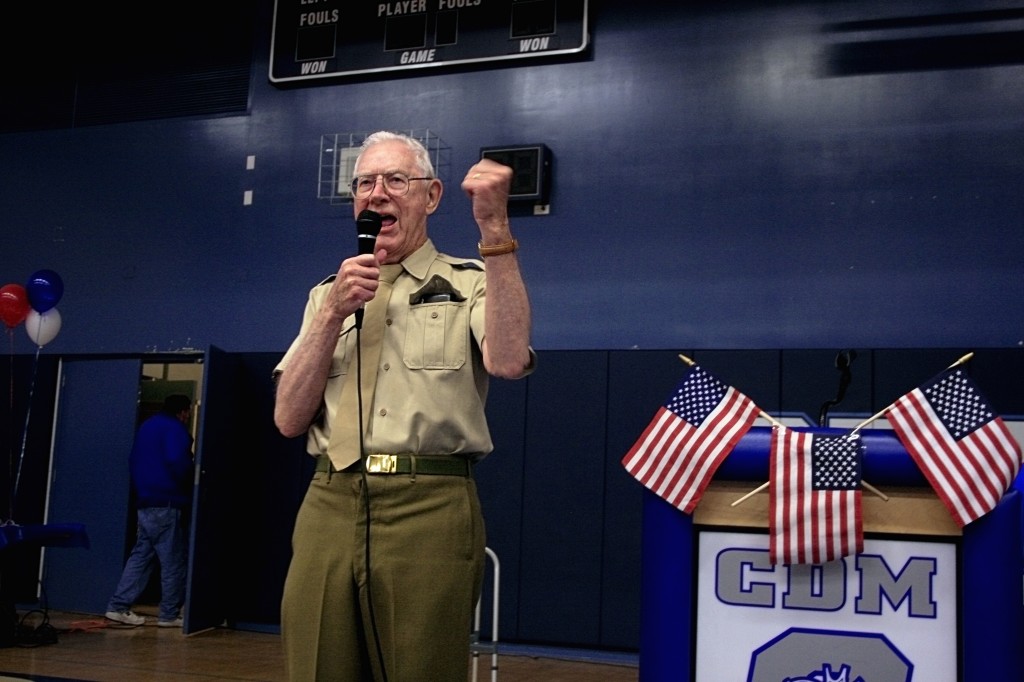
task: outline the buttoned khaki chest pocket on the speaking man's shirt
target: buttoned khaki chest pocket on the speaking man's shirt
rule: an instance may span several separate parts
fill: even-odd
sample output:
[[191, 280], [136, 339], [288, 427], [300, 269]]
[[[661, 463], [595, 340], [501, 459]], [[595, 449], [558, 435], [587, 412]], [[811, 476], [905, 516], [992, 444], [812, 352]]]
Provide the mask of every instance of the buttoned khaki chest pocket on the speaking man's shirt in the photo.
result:
[[458, 370], [469, 343], [466, 301], [417, 303], [409, 307], [403, 359], [411, 370]]

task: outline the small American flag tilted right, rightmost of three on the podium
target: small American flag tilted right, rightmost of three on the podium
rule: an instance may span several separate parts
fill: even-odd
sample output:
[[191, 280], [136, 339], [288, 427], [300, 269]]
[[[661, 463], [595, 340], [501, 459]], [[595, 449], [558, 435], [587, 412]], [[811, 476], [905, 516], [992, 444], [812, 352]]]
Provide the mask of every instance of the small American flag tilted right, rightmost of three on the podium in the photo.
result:
[[1020, 445], [964, 368], [913, 389], [886, 416], [961, 527], [991, 511], [1013, 484]]

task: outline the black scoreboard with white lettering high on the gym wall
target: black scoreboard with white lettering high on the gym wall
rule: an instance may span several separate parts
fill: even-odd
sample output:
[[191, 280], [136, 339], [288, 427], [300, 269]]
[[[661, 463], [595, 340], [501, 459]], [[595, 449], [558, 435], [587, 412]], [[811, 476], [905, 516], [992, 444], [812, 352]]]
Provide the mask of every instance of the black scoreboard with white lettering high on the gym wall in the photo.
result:
[[571, 54], [587, 0], [275, 0], [270, 81]]

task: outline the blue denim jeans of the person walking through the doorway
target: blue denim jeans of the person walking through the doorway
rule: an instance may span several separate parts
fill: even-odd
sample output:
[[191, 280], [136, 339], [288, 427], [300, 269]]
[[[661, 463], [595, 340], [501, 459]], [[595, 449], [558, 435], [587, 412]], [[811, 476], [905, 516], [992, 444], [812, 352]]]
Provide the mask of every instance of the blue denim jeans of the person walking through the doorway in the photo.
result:
[[181, 615], [185, 601], [187, 572], [187, 528], [182, 512], [174, 507], [146, 507], [138, 510], [135, 547], [125, 563], [118, 589], [106, 605], [109, 611], [132, 607], [153, 573], [154, 560], [160, 561], [160, 620]]

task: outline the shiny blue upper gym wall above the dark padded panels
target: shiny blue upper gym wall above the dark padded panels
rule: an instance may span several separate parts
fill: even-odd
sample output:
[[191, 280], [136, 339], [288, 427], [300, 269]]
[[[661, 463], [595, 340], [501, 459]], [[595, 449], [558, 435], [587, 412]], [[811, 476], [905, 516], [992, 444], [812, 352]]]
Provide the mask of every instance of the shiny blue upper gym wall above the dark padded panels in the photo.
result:
[[[578, 59], [283, 88], [262, 0], [248, 114], [0, 135], [0, 280], [62, 276], [45, 352], [284, 349], [354, 250], [321, 136], [429, 129], [458, 254], [479, 148], [554, 154], [551, 214], [513, 224], [538, 348], [1022, 342], [1024, 39], [990, 65], [971, 38], [1022, 3], [590, 4]], [[981, 54], [929, 47], [950, 34]]]

